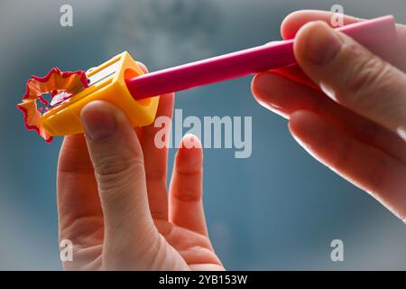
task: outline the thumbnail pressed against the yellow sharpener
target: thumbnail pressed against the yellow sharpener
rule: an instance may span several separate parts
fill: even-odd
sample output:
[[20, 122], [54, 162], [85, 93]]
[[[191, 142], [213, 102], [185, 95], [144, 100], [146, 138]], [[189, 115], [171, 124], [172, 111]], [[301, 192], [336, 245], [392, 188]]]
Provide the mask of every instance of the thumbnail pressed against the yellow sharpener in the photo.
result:
[[90, 103], [80, 114], [86, 135], [94, 141], [104, 140], [115, 133], [115, 115], [104, 104]]

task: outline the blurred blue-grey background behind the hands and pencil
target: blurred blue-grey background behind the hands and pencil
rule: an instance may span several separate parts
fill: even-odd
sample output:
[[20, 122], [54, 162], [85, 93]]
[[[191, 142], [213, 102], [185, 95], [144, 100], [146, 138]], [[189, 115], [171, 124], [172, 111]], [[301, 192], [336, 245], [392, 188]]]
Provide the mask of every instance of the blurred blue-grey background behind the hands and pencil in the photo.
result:
[[[60, 26], [60, 6], [73, 27]], [[143, 0], [0, 3], [0, 269], [60, 270], [55, 179], [61, 138], [45, 144], [15, 108], [31, 74], [87, 70], [129, 51], [150, 70], [280, 39], [285, 15], [330, 10], [406, 23], [403, 0]], [[208, 230], [227, 269], [406, 269], [406, 228], [300, 148], [286, 120], [251, 97], [251, 78], [181, 92], [187, 116], [252, 116], [253, 153], [206, 149]], [[174, 149], [171, 149], [172, 163]], [[171, 172], [171, 169], [170, 169]], [[344, 241], [344, 262], [330, 242]]]

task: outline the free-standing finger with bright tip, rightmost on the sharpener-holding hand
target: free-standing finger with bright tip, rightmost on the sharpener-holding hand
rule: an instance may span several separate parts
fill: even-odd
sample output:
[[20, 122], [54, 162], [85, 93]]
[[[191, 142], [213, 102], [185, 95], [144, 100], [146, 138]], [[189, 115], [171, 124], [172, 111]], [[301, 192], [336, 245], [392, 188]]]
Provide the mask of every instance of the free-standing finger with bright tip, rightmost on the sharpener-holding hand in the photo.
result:
[[185, 135], [173, 165], [170, 219], [182, 228], [207, 236], [202, 201], [202, 163], [198, 137]]

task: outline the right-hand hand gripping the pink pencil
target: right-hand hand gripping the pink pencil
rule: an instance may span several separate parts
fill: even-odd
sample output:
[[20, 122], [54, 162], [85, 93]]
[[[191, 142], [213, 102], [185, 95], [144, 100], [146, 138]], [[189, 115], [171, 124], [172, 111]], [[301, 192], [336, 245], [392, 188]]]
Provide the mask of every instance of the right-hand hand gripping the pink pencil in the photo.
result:
[[301, 11], [284, 20], [282, 37], [296, 34], [301, 70], [255, 76], [254, 96], [289, 119], [309, 154], [406, 221], [406, 26], [373, 53], [328, 27], [331, 16]]

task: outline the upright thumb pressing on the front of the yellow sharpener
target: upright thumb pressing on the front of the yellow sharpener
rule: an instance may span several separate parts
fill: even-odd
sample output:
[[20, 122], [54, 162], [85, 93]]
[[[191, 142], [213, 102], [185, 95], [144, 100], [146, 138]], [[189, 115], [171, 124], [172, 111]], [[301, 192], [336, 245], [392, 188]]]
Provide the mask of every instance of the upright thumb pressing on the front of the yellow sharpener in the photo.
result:
[[[106, 258], [113, 263], [105, 261], [127, 267], [126, 261], [159, 243], [148, 205], [143, 151], [118, 108], [94, 101], [82, 109], [80, 118], [105, 218]], [[117, 260], [122, 263], [115, 264]]]

